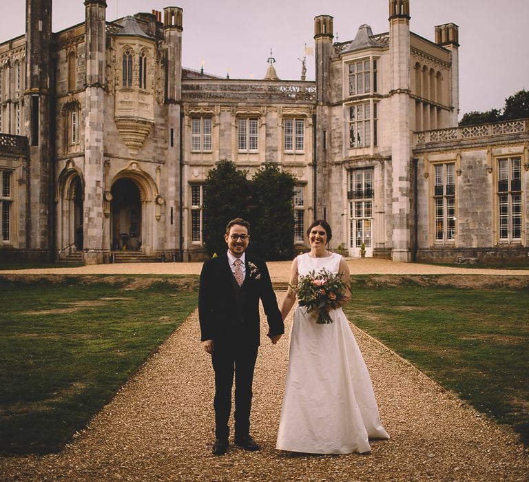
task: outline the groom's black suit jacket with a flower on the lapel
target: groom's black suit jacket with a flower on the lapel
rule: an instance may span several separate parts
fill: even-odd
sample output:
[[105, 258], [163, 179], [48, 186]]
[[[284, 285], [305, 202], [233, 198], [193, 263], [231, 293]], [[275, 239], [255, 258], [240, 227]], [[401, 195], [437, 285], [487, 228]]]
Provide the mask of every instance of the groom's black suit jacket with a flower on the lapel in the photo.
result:
[[[198, 292], [198, 317], [201, 339], [212, 339], [214, 343], [242, 342], [260, 344], [259, 300], [262, 300], [267, 315], [269, 333], [282, 335], [284, 324], [273, 292], [267, 265], [259, 258], [246, 253], [246, 275], [240, 295], [244, 297], [244, 315], [237, 319], [236, 288], [234, 275], [227, 254], [207, 260], [200, 273]], [[251, 273], [248, 263], [257, 266], [260, 274]]]

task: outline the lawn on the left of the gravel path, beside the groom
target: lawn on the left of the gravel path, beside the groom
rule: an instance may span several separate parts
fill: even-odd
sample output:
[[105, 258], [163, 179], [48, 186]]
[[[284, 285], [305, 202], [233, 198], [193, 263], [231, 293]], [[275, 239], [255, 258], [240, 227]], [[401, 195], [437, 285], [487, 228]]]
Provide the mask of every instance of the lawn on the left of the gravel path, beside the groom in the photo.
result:
[[0, 277], [0, 452], [60, 450], [194, 310], [196, 285]]

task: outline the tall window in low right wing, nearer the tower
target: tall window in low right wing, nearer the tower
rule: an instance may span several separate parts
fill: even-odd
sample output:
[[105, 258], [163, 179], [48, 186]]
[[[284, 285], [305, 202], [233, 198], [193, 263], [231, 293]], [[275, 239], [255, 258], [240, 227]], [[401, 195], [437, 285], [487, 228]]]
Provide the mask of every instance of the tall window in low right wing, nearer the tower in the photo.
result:
[[455, 240], [455, 165], [436, 164], [434, 178], [435, 242]]

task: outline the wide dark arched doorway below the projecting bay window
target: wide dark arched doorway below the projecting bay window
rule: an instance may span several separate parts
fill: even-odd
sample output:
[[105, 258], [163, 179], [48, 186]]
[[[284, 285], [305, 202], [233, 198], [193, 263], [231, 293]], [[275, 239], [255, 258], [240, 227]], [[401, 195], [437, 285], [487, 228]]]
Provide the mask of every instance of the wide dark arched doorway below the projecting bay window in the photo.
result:
[[112, 249], [141, 249], [141, 193], [136, 182], [121, 178], [112, 185], [110, 202]]

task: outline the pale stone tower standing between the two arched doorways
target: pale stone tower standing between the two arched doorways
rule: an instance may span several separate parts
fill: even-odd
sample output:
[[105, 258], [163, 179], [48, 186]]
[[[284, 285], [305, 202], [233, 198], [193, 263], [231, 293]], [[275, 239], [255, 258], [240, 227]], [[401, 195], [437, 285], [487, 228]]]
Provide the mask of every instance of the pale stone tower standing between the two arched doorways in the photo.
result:
[[109, 238], [103, 216], [103, 143], [105, 108], [105, 0], [85, 0], [85, 263], [103, 262]]

